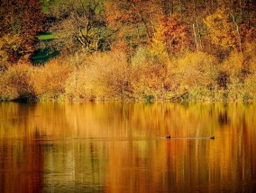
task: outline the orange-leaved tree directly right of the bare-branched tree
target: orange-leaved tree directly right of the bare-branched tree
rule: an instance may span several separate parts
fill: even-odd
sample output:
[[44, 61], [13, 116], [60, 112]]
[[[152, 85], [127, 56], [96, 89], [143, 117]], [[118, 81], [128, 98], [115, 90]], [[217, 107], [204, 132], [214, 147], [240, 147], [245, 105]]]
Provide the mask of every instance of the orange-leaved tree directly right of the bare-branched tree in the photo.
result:
[[[157, 0], [109, 0], [105, 4], [107, 26], [114, 31], [113, 44], [130, 50], [149, 44], [160, 6]], [[118, 46], [117, 46], [118, 47]]]

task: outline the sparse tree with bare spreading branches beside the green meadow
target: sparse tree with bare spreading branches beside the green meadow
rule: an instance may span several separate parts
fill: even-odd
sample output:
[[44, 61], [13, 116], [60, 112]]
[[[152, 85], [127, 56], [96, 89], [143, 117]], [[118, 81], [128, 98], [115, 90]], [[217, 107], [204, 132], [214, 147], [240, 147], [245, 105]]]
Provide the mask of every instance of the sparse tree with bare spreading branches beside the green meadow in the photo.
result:
[[50, 31], [54, 46], [62, 52], [91, 53], [108, 49], [108, 31], [103, 18], [103, 0], [63, 0], [50, 4], [48, 17], [54, 18]]

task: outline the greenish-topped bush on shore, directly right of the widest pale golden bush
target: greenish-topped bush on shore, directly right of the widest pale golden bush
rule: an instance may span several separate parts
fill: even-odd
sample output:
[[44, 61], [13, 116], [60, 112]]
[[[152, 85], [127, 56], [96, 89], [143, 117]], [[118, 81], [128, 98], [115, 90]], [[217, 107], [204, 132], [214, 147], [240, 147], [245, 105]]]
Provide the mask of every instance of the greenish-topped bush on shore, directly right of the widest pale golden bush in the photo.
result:
[[131, 89], [136, 100], [164, 99], [168, 61], [139, 48], [132, 57]]

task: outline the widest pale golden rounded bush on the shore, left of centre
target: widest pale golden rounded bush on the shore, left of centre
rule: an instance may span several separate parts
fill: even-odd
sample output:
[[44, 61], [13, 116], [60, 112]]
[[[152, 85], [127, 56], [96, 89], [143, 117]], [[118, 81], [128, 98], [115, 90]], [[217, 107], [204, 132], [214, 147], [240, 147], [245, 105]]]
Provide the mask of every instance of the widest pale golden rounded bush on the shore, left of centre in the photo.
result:
[[66, 94], [69, 99], [127, 99], [130, 68], [122, 52], [98, 53], [87, 58], [69, 75]]

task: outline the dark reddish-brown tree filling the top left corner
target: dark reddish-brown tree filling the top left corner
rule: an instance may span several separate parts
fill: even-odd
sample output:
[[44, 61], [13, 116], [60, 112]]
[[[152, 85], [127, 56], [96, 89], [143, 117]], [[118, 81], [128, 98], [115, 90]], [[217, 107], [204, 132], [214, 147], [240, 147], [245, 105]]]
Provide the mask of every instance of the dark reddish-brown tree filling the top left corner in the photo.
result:
[[43, 30], [38, 0], [2, 0], [0, 3], [0, 63], [28, 60], [35, 37]]

